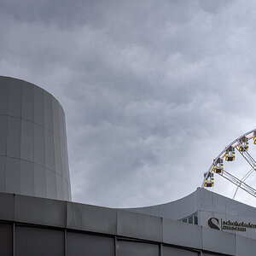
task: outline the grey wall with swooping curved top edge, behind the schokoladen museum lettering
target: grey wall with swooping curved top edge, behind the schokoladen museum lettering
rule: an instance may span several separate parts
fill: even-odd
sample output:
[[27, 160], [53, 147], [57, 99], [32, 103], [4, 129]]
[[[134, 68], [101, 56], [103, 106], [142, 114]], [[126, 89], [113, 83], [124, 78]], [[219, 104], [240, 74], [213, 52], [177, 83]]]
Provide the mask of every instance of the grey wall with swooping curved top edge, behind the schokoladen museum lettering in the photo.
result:
[[[213, 222], [219, 230], [256, 240], [256, 208], [223, 195], [212, 193], [207, 189], [198, 188], [194, 193], [166, 204], [127, 210], [174, 220], [189, 217], [196, 212], [198, 224], [201, 226], [209, 227], [208, 220], [217, 218]], [[223, 225], [224, 221], [230, 221], [230, 224]], [[235, 223], [235, 225], [232, 225], [232, 223]], [[236, 229], [236, 227], [241, 228], [241, 224], [249, 224], [251, 227]], [[232, 230], [233, 226], [234, 229]]]

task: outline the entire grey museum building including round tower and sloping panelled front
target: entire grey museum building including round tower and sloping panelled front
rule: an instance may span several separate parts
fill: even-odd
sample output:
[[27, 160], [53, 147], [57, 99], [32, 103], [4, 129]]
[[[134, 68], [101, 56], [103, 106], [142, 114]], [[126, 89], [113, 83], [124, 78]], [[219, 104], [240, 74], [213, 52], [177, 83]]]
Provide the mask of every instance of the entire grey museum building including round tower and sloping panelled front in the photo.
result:
[[206, 189], [133, 209], [72, 202], [60, 103], [34, 84], [6, 77], [0, 77], [0, 176], [1, 256], [256, 252], [255, 208]]

